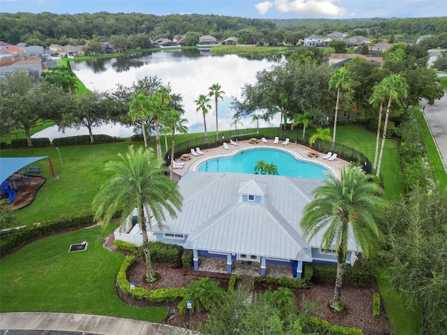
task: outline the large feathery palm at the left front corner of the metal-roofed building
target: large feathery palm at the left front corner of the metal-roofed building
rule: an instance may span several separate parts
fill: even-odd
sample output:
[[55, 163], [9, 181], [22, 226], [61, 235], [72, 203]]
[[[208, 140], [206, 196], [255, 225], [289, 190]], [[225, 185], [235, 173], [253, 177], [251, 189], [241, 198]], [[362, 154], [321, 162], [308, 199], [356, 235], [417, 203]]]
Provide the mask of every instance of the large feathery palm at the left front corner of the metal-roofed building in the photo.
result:
[[175, 218], [177, 211], [182, 209], [182, 195], [177, 184], [160, 173], [164, 170], [159, 168], [162, 162], [154, 157], [152, 150], [142, 147], [135, 150], [131, 146], [127, 154], [118, 156], [119, 161], [105, 164], [105, 172], [113, 175], [106, 179], [93, 200], [95, 220], [103, 218], [103, 224], [108, 225], [115, 213], [122, 209], [121, 223], [124, 225], [133, 209], [137, 209], [145, 252], [146, 280], [154, 282], [156, 274], [152, 268], [145, 213], [149, 230], [152, 230], [153, 220], [161, 230], [166, 216]]

